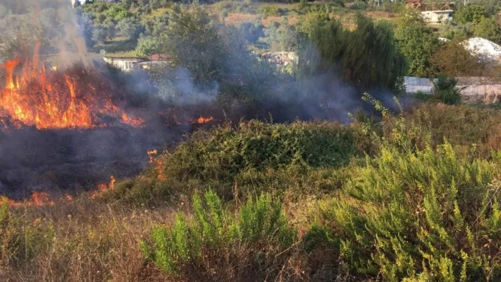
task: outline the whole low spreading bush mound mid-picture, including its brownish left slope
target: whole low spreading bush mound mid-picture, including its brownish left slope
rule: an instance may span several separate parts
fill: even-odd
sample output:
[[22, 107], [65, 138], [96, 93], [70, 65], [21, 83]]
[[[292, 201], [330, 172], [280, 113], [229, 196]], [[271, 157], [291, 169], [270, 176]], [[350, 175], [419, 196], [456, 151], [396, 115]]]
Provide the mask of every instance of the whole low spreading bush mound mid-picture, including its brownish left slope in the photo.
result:
[[[362, 136], [360, 136], [362, 137]], [[103, 196], [151, 203], [169, 196], [190, 194], [194, 187], [213, 188], [219, 196], [233, 196], [233, 189], [246, 195], [275, 190], [283, 192], [299, 183], [303, 193], [331, 189], [337, 184], [309, 184], [311, 170], [330, 170], [347, 165], [362, 153], [357, 135], [349, 127], [327, 122], [267, 124], [241, 122], [210, 131], [195, 131], [173, 151], [159, 155], [143, 177], [115, 184]], [[325, 177], [323, 177], [325, 178]]]

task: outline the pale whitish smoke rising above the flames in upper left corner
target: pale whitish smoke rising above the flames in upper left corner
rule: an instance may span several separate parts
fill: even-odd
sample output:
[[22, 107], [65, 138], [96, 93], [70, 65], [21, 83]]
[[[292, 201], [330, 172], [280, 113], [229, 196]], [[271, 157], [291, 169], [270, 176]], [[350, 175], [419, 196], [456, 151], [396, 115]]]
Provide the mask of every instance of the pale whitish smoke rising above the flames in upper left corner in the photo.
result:
[[29, 57], [35, 43], [41, 56], [52, 57], [59, 66], [88, 65], [86, 45], [75, 9], [69, 0], [4, 0], [11, 16], [0, 18], [0, 45], [7, 59]]

